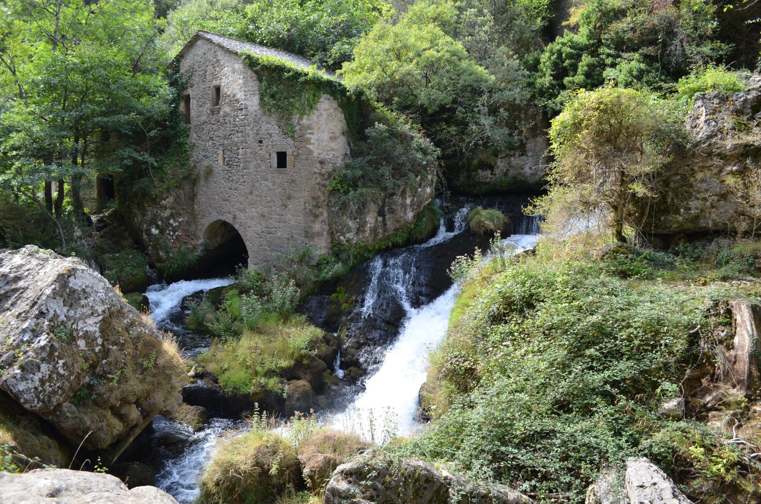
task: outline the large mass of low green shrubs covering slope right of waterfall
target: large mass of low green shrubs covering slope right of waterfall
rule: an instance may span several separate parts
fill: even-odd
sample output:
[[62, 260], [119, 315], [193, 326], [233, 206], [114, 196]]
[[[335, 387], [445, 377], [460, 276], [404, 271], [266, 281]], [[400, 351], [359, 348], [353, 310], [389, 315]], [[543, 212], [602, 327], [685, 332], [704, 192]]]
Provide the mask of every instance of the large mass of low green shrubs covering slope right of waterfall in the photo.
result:
[[395, 449], [569, 502], [584, 501], [603, 462], [649, 456], [666, 471], [692, 467], [697, 495], [721, 499], [743, 467], [734, 447], [715, 427], [654, 410], [689, 372], [712, 369], [699, 327], [712, 327], [708, 308], [731, 293], [633, 283], [587, 261], [473, 267], [460, 316], [430, 358], [438, 419]]

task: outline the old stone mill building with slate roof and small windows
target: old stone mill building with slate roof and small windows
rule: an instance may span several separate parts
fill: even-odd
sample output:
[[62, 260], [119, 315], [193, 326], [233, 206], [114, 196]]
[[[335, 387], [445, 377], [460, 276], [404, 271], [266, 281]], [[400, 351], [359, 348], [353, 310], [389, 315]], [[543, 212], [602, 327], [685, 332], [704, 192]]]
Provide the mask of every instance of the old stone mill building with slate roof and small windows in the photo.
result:
[[174, 65], [187, 79], [180, 107], [199, 172], [192, 203], [198, 238], [202, 247], [218, 247], [239, 233], [255, 267], [292, 247], [327, 253], [328, 187], [349, 156], [343, 113], [323, 95], [286, 132], [282, 120], [260, 107], [260, 83], [240, 57], [243, 50], [303, 69], [314, 65], [203, 30], [177, 55]]

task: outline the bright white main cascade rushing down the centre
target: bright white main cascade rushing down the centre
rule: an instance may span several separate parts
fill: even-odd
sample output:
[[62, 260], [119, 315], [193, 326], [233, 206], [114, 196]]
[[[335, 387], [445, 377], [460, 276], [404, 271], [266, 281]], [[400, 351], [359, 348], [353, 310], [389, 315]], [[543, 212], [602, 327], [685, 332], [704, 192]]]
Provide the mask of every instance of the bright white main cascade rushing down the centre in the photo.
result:
[[[457, 233], [451, 233], [450, 238], [454, 234]], [[503, 244], [517, 254], [533, 248], [537, 238], [537, 234], [513, 234]], [[394, 265], [391, 263], [389, 266], [393, 268]], [[397, 292], [406, 292], [410, 276], [405, 273], [391, 276], [396, 280], [394, 287]], [[426, 378], [428, 353], [447, 334], [449, 317], [459, 290], [459, 285], [452, 285], [434, 301], [420, 308], [410, 308], [409, 303], [401, 303], [406, 317], [399, 338], [386, 352], [378, 371], [365, 382], [365, 391], [344, 413], [333, 417], [334, 427], [356, 432], [374, 442], [385, 442], [393, 435], [409, 435], [419, 427], [416, 422], [418, 394]]]

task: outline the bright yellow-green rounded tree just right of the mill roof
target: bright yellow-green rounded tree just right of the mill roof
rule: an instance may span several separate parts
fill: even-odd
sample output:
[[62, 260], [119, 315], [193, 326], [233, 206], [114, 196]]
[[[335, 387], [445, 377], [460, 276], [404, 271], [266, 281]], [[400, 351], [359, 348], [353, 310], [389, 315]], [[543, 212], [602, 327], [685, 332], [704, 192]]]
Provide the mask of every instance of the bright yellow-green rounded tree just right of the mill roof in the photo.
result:
[[495, 93], [494, 77], [447, 34], [456, 20], [452, 2], [417, 2], [376, 24], [341, 69], [349, 88], [409, 116], [448, 155], [488, 139]]

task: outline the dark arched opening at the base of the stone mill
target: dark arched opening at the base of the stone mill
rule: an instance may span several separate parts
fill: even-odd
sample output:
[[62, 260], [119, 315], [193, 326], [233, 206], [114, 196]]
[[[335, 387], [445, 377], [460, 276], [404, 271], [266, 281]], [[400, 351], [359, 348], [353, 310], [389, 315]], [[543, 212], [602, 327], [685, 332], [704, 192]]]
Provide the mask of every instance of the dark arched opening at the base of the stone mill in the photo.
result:
[[203, 238], [202, 263], [205, 274], [231, 275], [239, 265], [248, 265], [246, 242], [227, 221], [217, 220], [206, 226]]

